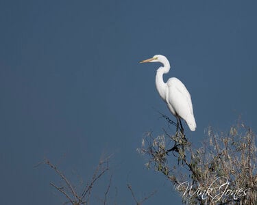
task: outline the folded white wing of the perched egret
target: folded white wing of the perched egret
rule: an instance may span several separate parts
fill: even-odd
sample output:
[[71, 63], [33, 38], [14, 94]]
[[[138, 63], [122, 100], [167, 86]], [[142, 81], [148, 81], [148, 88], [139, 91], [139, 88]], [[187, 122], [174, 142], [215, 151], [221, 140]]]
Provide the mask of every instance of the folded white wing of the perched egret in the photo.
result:
[[169, 94], [167, 98], [168, 107], [184, 119], [191, 131], [196, 128], [191, 95], [185, 85], [177, 78], [171, 78], [167, 82]]

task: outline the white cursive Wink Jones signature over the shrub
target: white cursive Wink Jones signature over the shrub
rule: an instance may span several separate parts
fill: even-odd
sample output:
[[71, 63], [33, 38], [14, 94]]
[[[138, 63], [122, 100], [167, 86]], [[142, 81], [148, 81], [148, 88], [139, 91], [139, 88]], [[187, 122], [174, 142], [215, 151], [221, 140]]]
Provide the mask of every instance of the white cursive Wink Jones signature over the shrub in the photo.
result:
[[210, 198], [211, 202], [218, 202], [221, 200], [221, 197], [233, 197], [234, 200], [238, 200], [240, 197], [244, 197], [247, 195], [247, 192], [250, 191], [250, 189], [229, 189], [230, 182], [228, 181], [228, 178], [225, 177], [218, 177], [216, 178], [209, 187], [201, 187], [198, 184], [197, 189], [193, 187], [191, 184], [191, 187], [189, 187], [189, 182], [182, 182], [180, 185], [178, 185], [177, 189], [178, 191], [184, 191], [183, 196], [188, 194], [190, 197], [193, 195], [197, 195], [201, 197], [201, 200], [206, 200], [208, 197]]

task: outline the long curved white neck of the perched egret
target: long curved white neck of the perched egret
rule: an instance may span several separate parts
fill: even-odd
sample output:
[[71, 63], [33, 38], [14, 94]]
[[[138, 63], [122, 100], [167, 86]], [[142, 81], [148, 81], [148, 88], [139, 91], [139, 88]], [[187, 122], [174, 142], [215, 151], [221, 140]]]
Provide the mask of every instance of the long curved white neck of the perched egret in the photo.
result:
[[171, 66], [169, 65], [169, 61], [167, 61], [163, 64], [163, 67], [158, 68], [156, 71], [156, 88], [160, 94], [160, 97], [164, 101], [166, 99], [167, 84], [163, 81], [163, 74], [168, 73], [170, 68]]

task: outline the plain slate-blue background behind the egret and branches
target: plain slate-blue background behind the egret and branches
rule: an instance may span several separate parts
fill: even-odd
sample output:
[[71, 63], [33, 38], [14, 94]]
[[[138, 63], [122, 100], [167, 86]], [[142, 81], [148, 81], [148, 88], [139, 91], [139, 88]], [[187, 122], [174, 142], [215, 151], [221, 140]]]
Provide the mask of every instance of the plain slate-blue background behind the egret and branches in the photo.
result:
[[1, 204], [61, 204], [49, 185], [58, 177], [34, 165], [47, 157], [88, 180], [112, 153], [119, 204], [133, 204], [127, 178], [138, 197], [158, 191], [146, 204], [180, 204], [136, 152], [145, 132], [168, 127], [154, 109], [171, 116], [155, 87], [159, 65], [138, 61], [168, 57], [164, 80], [178, 77], [191, 92], [197, 131], [186, 132], [196, 147], [207, 126], [228, 131], [239, 115], [256, 131], [256, 9], [256, 1], [1, 1]]

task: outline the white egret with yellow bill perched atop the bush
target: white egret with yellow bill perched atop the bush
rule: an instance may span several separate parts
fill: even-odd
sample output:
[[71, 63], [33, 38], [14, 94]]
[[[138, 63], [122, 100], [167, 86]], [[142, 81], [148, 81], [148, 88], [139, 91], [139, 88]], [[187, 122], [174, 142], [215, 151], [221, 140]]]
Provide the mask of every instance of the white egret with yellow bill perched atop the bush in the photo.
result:
[[167, 103], [169, 110], [177, 119], [177, 131], [179, 126], [181, 126], [180, 130], [184, 131], [180, 118], [186, 121], [191, 131], [195, 131], [196, 123], [192, 100], [185, 85], [175, 77], [170, 78], [167, 83], [163, 81], [163, 74], [168, 73], [171, 68], [167, 57], [164, 55], [154, 55], [154, 57], [140, 61], [140, 63], [147, 62], [160, 62], [163, 64], [156, 71], [156, 88], [162, 100]]

